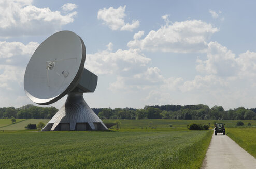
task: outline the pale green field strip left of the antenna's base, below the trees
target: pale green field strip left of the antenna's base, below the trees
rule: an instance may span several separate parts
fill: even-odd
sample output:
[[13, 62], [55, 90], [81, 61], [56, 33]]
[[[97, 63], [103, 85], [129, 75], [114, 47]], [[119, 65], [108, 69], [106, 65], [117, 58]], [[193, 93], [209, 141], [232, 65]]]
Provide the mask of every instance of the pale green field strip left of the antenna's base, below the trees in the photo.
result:
[[[2, 120], [2, 119], [1, 119]], [[5, 121], [10, 121], [10, 119], [3, 119]], [[20, 121], [19, 121], [20, 120]], [[0, 121], [1, 122], [1, 121]], [[0, 130], [24, 130], [25, 129], [25, 126], [27, 126], [27, 124], [31, 123], [31, 124], [38, 124], [39, 122], [43, 122], [43, 123], [48, 123], [49, 122], [49, 119], [26, 119], [26, 120], [22, 120], [22, 119], [17, 119], [16, 120], [16, 124], [11, 124], [11, 125], [8, 125], [6, 127], [1, 127], [0, 126]]]

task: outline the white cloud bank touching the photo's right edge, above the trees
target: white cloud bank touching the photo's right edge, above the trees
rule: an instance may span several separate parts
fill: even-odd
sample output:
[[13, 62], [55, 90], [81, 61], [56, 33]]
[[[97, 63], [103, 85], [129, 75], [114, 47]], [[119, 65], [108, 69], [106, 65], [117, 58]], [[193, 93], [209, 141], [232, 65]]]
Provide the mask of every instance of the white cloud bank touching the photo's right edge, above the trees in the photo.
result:
[[197, 59], [196, 70], [229, 79], [256, 76], [256, 53], [247, 51], [236, 56], [218, 42], [208, 44], [207, 59]]

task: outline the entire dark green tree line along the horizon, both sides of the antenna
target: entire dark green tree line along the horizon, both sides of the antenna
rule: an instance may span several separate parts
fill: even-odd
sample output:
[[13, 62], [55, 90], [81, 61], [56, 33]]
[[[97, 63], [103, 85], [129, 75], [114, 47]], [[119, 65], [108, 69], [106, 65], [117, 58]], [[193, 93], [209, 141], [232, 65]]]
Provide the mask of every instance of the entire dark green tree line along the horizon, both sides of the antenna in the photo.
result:
[[[239, 107], [224, 110], [222, 106], [207, 105], [154, 105], [142, 109], [92, 108], [101, 119], [202, 119], [202, 120], [256, 120], [256, 108]], [[0, 108], [0, 119], [51, 119], [58, 111], [55, 107], [25, 105], [21, 108]]]

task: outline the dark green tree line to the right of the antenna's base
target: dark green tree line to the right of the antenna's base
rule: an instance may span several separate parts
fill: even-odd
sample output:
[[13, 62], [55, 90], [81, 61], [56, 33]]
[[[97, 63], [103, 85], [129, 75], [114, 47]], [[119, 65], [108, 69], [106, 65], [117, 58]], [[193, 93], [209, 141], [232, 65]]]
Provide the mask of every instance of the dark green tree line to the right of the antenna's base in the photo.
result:
[[239, 107], [225, 111], [222, 106], [207, 105], [154, 105], [143, 109], [96, 109], [101, 119], [186, 119], [186, 120], [256, 120], [256, 108]]

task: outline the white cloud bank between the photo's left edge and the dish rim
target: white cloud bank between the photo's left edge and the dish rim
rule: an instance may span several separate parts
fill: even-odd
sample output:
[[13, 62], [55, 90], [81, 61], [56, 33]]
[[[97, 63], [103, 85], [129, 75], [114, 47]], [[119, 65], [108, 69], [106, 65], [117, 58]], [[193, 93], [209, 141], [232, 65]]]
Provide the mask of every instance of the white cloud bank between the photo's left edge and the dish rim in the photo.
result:
[[37, 42], [0, 42], [0, 102], [3, 106], [31, 103], [24, 96], [23, 78], [26, 64], [38, 47]]

